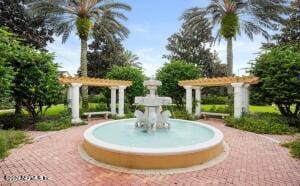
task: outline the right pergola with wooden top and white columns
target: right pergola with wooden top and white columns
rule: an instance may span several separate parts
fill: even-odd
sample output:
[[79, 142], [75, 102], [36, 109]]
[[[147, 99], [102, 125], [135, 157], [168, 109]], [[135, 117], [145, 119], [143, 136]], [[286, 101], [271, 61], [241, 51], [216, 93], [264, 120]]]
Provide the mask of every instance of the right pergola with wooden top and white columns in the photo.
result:
[[259, 79], [254, 76], [201, 78], [180, 81], [179, 85], [186, 90], [186, 110], [192, 114], [193, 89], [197, 101], [196, 115], [201, 116], [201, 89], [204, 87], [232, 86], [234, 88], [234, 117], [240, 118], [242, 113], [249, 112], [249, 86], [257, 84]]

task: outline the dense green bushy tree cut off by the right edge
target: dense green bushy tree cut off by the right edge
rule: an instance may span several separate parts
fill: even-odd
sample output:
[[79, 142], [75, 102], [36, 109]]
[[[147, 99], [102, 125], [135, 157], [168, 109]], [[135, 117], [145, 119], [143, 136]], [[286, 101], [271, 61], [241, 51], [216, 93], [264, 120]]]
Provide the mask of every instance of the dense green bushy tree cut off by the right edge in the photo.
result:
[[[300, 50], [276, 47], [260, 55], [251, 73], [260, 78], [260, 94], [284, 116], [300, 119]], [[292, 109], [295, 106], [295, 109]]]

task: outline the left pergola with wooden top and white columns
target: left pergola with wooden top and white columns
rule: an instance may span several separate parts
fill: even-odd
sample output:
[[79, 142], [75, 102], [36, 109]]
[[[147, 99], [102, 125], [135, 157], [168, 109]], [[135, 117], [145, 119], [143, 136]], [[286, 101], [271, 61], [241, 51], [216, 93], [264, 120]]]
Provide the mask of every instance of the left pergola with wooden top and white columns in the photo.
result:
[[62, 84], [68, 84], [68, 102], [72, 110], [72, 123], [80, 123], [82, 120], [79, 115], [79, 88], [82, 85], [108, 87], [111, 90], [111, 113], [117, 114], [117, 90], [119, 93], [118, 116], [124, 116], [124, 92], [125, 89], [132, 85], [131, 81], [109, 80], [89, 77], [71, 77], [62, 76], [59, 78]]

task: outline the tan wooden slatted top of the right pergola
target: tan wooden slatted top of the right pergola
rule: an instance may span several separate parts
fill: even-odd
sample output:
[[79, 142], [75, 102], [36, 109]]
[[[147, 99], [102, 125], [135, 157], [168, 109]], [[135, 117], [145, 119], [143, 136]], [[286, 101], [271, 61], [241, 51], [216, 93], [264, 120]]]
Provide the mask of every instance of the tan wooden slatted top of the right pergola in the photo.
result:
[[227, 86], [231, 83], [257, 84], [259, 79], [255, 76], [232, 76], [232, 77], [217, 77], [217, 78], [200, 78], [195, 80], [179, 81], [180, 86]]

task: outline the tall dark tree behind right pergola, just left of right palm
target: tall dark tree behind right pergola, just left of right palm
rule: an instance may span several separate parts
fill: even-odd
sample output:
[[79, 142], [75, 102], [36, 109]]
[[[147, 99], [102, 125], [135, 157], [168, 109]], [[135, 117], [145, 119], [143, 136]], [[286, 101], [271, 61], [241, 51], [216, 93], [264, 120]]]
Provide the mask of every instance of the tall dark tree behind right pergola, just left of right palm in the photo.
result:
[[[198, 14], [197, 27], [190, 31], [187, 22], [191, 16]], [[181, 30], [168, 38], [167, 50], [170, 52], [164, 57], [170, 60], [184, 60], [199, 67], [201, 74], [212, 76], [213, 55], [207, 45], [212, 44], [212, 28], [204, 17], [205, 12], [197, 8], [190, 9], [182, 16]]]

